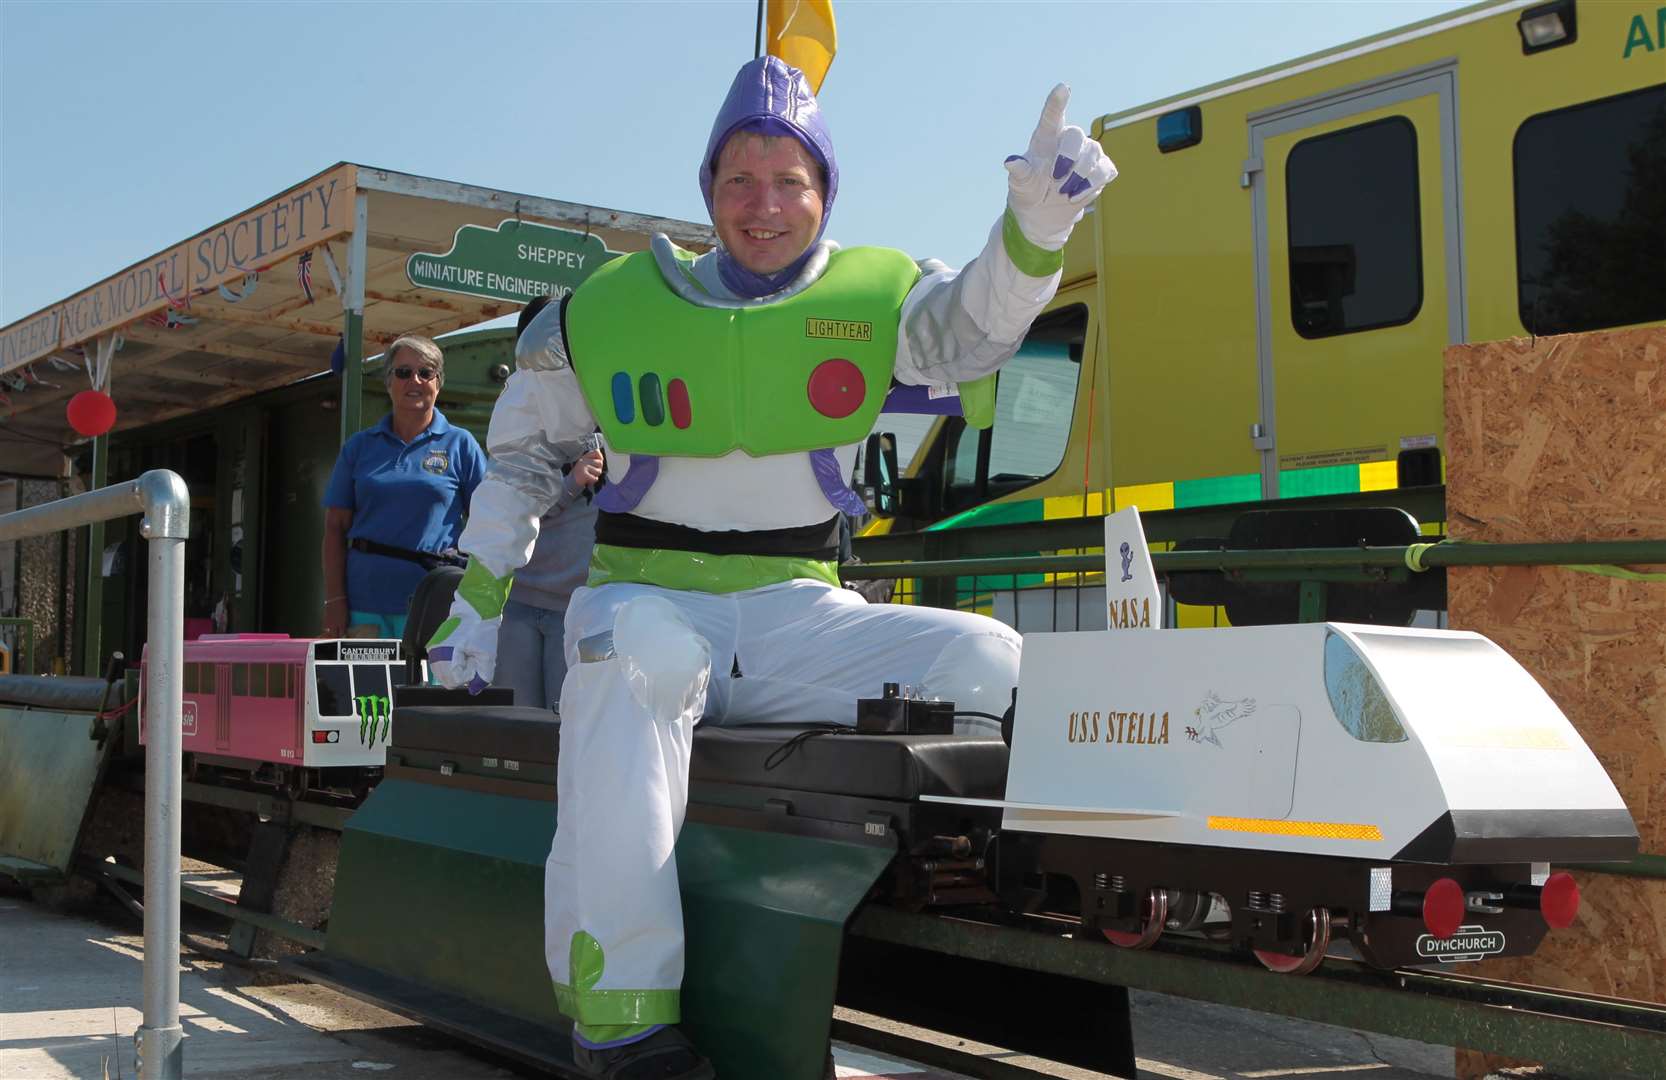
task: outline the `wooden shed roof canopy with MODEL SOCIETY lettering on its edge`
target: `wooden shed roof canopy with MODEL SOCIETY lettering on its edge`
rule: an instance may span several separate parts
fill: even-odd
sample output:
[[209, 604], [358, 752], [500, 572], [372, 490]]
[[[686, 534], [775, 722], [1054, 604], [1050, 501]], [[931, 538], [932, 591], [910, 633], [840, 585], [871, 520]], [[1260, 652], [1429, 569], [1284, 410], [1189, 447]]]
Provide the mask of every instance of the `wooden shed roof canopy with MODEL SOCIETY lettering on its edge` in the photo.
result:
[[63, 410], [90, 387], [85, 357], [100, 338], [107, 347], [120, 338], [108, 387], [118, 432], [328, 370], [357, 228], [367, 355], [402, 333], [436, 337], [515, 312], [515, 300], [415, 285], [405, 268], [413, 253], [451, 250], [465, 225], [516, 218], [591, 233], [613, 252], [641, 250], [656, 232], [686, 247], [715, 243], [711, 228], [693, 222], [343, 162], [0, 327], [0, 473], [58, 473], [63, 448], [80, 442]]

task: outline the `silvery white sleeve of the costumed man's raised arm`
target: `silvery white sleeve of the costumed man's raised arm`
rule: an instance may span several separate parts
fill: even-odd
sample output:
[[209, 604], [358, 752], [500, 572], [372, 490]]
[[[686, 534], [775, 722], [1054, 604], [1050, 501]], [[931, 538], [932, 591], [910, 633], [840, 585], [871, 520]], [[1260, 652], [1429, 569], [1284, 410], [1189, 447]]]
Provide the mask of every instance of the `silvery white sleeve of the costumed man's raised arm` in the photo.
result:
[[[896, 380], [906, 385], [948, 385], [981, 378], [1013, 358], [1030, 323], [1058, 292], [1061, 268], [1033, 277], [1006, 252], [1003, 225], [965, 270], [921, 263], [920, 282], [903, 300], [896, 332]], [[1021, 238], [1013, 238], [1021, 243]], [[1031, 268], [1036, 267], [1030, 252]], [[1058, 253], [1045, 260], [1061, 262]]]

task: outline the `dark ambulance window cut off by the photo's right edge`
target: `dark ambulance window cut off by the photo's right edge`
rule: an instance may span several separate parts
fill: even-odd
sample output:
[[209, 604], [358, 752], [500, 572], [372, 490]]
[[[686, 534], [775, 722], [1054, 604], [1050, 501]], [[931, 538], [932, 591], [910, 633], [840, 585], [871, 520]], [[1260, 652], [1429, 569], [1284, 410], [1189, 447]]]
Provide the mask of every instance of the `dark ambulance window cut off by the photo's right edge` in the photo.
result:
[[1666, 85], [1528, 117], [1514, 158], [1528, 333], [1666, 318]]

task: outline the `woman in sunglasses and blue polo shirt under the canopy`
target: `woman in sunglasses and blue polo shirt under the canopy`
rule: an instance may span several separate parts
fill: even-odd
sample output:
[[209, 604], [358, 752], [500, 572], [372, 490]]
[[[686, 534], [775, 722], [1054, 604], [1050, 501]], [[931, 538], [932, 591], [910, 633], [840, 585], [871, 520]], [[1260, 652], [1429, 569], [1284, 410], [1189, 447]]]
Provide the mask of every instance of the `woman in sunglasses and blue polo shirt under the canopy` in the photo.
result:
[[436, 565], [463, 565], [456, 538], [486, 475], [475, 437], [435, 408], [438, 345], [398, 338], [382, 378], [393, 410], [347, 440], [323, 495], [325, 637], [402, 637], [416, 582]]

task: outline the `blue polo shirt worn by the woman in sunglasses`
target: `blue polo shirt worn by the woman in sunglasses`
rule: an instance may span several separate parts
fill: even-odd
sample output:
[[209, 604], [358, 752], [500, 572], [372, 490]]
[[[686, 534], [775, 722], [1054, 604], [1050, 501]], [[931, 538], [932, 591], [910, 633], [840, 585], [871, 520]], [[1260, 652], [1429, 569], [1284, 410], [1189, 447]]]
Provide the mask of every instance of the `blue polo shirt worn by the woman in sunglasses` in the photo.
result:
[[[323, 505], [353, 512], [348, 540], [445, 552], [463, 535], [468, 500], [485, 475], [480, 443], [436, 408], [428, 430], [408, 443], [393, 433], [390, 418], [348, 438]], [[347, 605], [353, 612], [403, 615], [425, 573], [403, 558], [348, 548]]]

